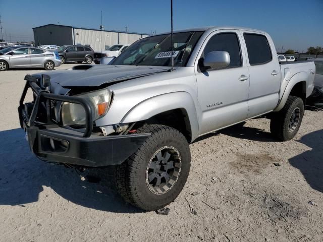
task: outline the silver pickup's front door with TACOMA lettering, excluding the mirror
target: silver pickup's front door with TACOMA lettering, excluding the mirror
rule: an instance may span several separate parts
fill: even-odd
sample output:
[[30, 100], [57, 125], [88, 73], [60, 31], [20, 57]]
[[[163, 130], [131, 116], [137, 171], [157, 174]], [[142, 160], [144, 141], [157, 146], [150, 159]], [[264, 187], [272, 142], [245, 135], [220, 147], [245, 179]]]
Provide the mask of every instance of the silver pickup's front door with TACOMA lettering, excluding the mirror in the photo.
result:
[[[248, 115], [249, 70], [239, 31], [215, 31], [202, 45], [195, 63], [198, 101], [201, 109], [199, 135], [239, 122]], [[227, 51], [230, 65], [201, 71], [204, 55]], [[203, 69], [202, 69], [203, 70]]]

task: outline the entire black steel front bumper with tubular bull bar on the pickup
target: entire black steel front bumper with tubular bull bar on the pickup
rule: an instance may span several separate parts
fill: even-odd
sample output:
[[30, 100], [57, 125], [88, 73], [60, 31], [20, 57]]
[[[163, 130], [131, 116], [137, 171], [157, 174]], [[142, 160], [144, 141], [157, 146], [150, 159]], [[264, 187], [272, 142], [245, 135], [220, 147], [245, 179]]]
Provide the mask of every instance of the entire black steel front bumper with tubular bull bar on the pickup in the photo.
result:
[[[34, 101], [24, 103], [29, 88], [34, 93]], [[53, 122], [48, 111], [48, 105], [50, 105], [48, 100], [82, 105], [86, 113], [84, 132], [62, 127]], [[44, 114], [39, 110], [45, 105]], [[41, 160], [53, 163], [90, 167], [121, 164], [150, 136], [150, 134], [115, 136], [93, 134], [92, 111], [86, 100], [79, 97], [51, 94], [48, 90], [40, 88], [35, 82], [27, 81], [20, 99], [18, 113], [20, 126], [26, 132], [30, 150]], [[39, 116], [43, 116], [42, 122], [40, 122]]]

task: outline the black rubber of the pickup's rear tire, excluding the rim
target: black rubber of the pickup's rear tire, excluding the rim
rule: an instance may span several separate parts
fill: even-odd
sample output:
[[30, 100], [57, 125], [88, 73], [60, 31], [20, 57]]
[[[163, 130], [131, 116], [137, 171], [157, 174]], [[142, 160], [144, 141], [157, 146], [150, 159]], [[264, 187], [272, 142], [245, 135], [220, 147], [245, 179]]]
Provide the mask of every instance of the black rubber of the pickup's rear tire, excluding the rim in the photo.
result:
[[[289, 123], [295, 109], [299, 108], [299, 120], [293, 131], [290, 131]], [[289, 96], [285, 106], [271, 117], [271, 133], [282, 141], [288, 141], [295, 137], [302, 123], [304, 115], [304, 103], [300, 97]]]

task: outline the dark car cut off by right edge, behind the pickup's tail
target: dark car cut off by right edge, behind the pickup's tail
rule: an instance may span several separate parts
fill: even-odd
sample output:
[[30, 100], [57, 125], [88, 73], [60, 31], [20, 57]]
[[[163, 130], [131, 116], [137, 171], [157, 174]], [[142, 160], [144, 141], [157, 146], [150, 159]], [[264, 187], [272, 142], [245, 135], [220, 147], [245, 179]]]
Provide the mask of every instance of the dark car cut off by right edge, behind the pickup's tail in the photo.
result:
[[314, 89], [311, 95], [307, 98], [309, 103], [322, 106], [323, 105], [323, 58], [308, 59], [309, 62], [314, 62], [316, 67], [314, 78]]

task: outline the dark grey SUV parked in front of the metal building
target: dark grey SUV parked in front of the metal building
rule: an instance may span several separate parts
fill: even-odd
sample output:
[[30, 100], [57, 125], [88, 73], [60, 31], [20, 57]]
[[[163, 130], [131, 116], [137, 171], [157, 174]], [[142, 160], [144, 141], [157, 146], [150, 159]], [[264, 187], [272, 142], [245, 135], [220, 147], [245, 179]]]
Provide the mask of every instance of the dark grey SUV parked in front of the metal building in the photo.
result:
[[94, 51], [90, 46], [84, 45], [63, 45], [57, 49], [60, 55], [61, 64], [68, 61], [91, 64], [94, 57]]

